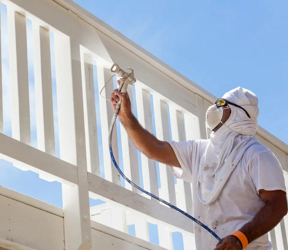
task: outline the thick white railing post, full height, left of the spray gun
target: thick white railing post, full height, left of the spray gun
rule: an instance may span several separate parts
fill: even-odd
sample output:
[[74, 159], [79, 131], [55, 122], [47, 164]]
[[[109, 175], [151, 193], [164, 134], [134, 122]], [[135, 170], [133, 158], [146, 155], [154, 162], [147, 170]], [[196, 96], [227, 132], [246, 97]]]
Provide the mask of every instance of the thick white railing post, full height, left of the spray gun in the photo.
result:
[[54, 36], [60, 156], [78, 175], [78, 185], [62, 185], [65, 249], [91, 249], [79, 24], [75, 14], [67, 15], [70, 38]]

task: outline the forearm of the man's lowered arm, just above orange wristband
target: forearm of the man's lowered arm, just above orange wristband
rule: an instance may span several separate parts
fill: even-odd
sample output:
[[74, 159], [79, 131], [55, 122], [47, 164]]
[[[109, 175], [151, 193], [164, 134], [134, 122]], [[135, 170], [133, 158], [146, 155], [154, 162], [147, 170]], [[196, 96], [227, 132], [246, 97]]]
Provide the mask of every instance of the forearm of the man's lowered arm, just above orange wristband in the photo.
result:
[[285, 214], [279, 211], [277, 203], [268, 202], [263, 206], [250, 222], [239, 231], [244, 233], [248, 243], [271, 231]]

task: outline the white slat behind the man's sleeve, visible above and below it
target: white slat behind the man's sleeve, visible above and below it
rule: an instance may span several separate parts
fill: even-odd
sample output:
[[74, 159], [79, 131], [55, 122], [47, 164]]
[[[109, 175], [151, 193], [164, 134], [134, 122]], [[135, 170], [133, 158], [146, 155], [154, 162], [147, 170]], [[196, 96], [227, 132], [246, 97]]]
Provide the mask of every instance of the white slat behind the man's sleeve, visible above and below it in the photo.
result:
[[[178, 110], [169, 109], [172, 139], [175, 141], [185, 141], [183, 115]], [[188, 214], [193, 214], [191, 183], [177, 179], [178, 197], [177, 206]]]

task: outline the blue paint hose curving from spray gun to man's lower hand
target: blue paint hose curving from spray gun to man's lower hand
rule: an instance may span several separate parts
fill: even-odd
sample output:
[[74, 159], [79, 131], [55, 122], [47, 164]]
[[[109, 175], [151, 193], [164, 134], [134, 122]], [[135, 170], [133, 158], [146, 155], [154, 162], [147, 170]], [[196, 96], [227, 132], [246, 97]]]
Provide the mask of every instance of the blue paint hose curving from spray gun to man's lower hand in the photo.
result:
[[118, 110], [114, 113], [113, 117], [112, 117], [112, 121], [110, 124], [110, 128], [109, 128], [109, 151], [110, 151], [110, 155], [111, 155], [111, 159], [116, 167], [116, 169], [118, 170], [118, 172], [121, 174], [121, 176], [132, 186], [134, 186], [135, 188], [139, 189], [140, 191], [142, 191], [145, 194], [148, 194], [149, 196], [151, 196], [152, 198], [161, 201], [162, 203], [166, 204], [167, 206], [170, 206], [171, 208], [177, 210], [178, 212], [184, 214], [185, 216], [187, 216], [189, 219], [191, 219], [192, 221], [195, 221], [197, 224], [199, 224], [201, 227], [205, 228], [209, 233], [211, 233], [220, 243], [222, 243], [222, 239], [216, 234], [214, 233], [209, 227], [205, 226], [202, 222], [198, 221], [197, 219], [195, 219], [194, 217], [192, 217], [190, 214], [184, 212], [183, 210], [179, 209], [178, 207], [170, 204], [169, 202], [157, 197], [154, 194], [151, 194], [149, 192], [147, 192], [146, 190], [144, 190], [143, 188], [140, 188], [139, 186], [137, 186], [134, 182], [132, 182], [131, 180], [129, 180], [125, 174], [121, 171], [121, 169], [119, 168], [114, 155], [113, 155], [113, 151], [112, 151], [112, 133], [113, 133], [113, 127], [114, 124], [116, 122], [116, 117], [117, 117], [117, 113]]

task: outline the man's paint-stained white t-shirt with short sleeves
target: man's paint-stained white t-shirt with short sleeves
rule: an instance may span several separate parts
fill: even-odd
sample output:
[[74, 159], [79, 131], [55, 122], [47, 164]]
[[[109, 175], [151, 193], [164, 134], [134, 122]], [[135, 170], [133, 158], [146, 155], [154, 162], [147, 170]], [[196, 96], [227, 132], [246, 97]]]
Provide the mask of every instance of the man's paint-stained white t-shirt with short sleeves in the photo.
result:
[[[168, 142], [181, 165], [171, 167], [176, 178], [192, 183], [193, 217], [207, 225], [223, 238], [251, 221], [264, 202], [260, 189], [286, 192], [283, 170], [274, 154], [265, 146], [256, 143], [245, 151], [217, 199], [205, 205], [196, 193], [198, 171], [203, 171], [205, 149], [209, 140]], [[192, 223], [187, 219], [187, 223]], [[194, 223], [197, 250], [213, 250], [217, 239], [207, 230]], [[251, 242], [247, 250], [271, 249], [268, 234]]]

